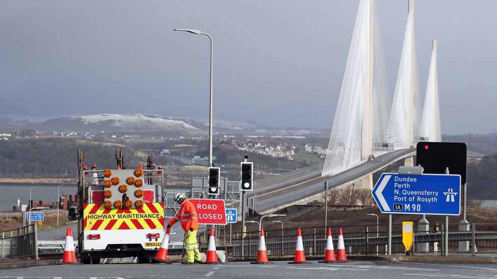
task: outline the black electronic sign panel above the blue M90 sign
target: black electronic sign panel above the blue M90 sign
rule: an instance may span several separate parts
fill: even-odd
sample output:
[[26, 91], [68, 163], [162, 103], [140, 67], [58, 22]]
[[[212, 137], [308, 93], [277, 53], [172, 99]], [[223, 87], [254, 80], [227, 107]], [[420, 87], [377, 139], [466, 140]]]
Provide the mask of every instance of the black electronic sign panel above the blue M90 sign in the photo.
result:
[[461, 175], [461, 183], [466, 183], [467, 146], [462, 142], [418, 142], [416, 165], [421, 165], [424, 173]]

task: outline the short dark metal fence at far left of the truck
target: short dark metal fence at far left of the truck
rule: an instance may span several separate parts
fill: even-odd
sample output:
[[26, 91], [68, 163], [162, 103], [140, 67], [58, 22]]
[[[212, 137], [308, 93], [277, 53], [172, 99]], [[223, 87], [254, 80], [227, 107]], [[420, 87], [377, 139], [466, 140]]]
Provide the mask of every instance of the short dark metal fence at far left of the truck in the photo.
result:
[[0, 258], [35, 256], [38, 259], [36, 224], [0, 232]]

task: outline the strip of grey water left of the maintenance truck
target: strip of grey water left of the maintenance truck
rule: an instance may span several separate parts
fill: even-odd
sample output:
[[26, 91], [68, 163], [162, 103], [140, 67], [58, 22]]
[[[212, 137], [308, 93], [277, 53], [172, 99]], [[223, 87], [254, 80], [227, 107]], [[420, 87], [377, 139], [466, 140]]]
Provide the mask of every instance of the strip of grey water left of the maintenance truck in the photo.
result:
[[[12, 212], [12, 207], [17, 205], [17, 199], [20, 199], [20, 204], [30, 203], [31, 199], [38, 203], [57, 202], [57, 186], [47, 185], [25, 185], [25, 186], [0, 186], [0, 212]], [[76, 195], [76, 185], [64, 185], [59, 187], [59, 195]], [[60, 197], [59, 196], [59, 197]]]

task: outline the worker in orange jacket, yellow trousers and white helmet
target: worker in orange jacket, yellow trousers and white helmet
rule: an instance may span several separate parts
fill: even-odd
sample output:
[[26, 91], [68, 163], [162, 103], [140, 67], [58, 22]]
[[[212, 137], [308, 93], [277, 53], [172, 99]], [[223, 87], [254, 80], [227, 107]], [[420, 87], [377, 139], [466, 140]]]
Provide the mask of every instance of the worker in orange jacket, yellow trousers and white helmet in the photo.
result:
[[199, 244], [197, 242], [197, 230], [199, 229], [199, 219], [195, 206], [185, 196], [184, 193], [176, 193], [174, 201], [181, 204], [178, 212], [168, 223], [168, 229], [176, 222], [181, 222], [181, 227], [186, 232], [185, 250], [187, 261], [183, 264], [200, 263]]

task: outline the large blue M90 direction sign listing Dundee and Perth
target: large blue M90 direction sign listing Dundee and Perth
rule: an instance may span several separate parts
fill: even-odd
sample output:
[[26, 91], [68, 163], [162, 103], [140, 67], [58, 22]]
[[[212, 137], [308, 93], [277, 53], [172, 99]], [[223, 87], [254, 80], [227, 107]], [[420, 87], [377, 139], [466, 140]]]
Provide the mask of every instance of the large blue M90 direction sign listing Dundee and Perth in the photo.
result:
[[459, 215], [459, 174], [383, 173], [371, 192], [382, 213]]

